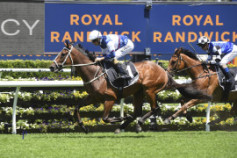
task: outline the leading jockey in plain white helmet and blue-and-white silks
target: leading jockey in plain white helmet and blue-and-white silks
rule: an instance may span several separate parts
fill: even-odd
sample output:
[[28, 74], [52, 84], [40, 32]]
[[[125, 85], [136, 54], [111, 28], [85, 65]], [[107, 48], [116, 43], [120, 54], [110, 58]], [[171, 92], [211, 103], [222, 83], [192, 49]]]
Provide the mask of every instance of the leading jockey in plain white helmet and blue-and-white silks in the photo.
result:
[[99, 31], [93, 30], [89, 34], [89, 40], [94, 45], [100, 46], [103, 53], [103, 57], [96, 58], [95, 62], [100, 62], [102, 60], [111, 61], [120, 78], [130, 78], [122, 64], [118, 61], [118, 58], [131, 52], [134, 48], [133, 42], [128, 39], [127, 36], [115, 34], [102, 36]]

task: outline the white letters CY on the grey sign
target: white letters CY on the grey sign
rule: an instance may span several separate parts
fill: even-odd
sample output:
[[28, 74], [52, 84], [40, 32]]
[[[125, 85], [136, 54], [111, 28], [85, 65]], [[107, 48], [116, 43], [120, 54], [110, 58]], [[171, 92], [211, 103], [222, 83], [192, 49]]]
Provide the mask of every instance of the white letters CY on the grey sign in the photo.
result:
[[[29, 35], [33, 35], [33, 29], [36, 27], [36, 25], [40, 22], [40, 20], [36, 20], [32, 25], [29, 24], [29, 22], [27, 20], [22, 20], [23, 24], [26, 26], [26, 28], [29, 30]], [[16, 25], [16, 30], [13, 32], [7, 32], [6, 31], [6, 24], [7, 23], [15, 23]], [[3, 34], [7, 35], [7, 36], [15, 36], [18, 35], [20, 33], [20, 30], [18, 29], [18, 27], [21, 25], [21, 23], [16, 20], [16, 19], [6, 19], [2, 22], [1, 24], [1, 31]]]

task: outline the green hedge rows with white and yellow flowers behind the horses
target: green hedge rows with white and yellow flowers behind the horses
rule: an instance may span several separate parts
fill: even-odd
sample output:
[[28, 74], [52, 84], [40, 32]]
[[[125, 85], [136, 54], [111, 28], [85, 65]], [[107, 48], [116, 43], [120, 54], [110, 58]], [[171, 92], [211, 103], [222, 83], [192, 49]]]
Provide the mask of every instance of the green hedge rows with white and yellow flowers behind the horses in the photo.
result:
[[[167, 61], [159, 61], [163, 67], [167, 67]], [[0, 61], [0, 67], [3, 68], [48, 68], [52, 61], [30, 61], [30, 60], [8, 60]], [[69, 80], [68, 73], [13, 73], [4, 72], [2, 80]], [[72, 77], [72, 80], [80, 80], [80, 78]], [[9, 89], [6, 89], [9, 91]], [[21, 89], [22, 90], [22, 89]], [[27, 130], [28, 132], [75, 132], [78, 131], [76, 118], [73, 117], [74, 108], [79, 103], [80, 98], [87, 95], [84, 90], [32, 90], [21, 91], [19, 94], [18, 107], [17, 107], [17, 129], [18, 132]], [[11, 93], [0, 94], [0, 132], [11, 132], [11, 127], [7, 124], [11, 124], [12, 116], [12, 103], [13, 103], [14, 91]], [[178, 117], [171, 122], [171, 125], [167, 126], [163, 123], [163, 118], [170, 116], [179, 107], [172, 106], [171, 104], [164, 104], [165, 102], [179, 102], [181, 95], [176, 91], [162, 91], [158, 94], [158, 100], [161, 102], [162, 113], [157, 117], [157, 123], [159, 130], [162, 128], [169, 128], [171, 130], [204, 130], [205, 129], [205, 110], [207, 104], [193, 107], [189, 110], [194, 118], [194, 123], [188, 123], [183, 117]], [[133, 112], [133, 106], [129, 104], [131, 98], [125, 100], [127, 103], [124, 107], [124, 111], [127, 114]], [[228, 115], [230, 111], [230, 104], [220, 104], [213, 106], [211, 113], [214, 115], [211, 120], [218, 118], [216, 113], [222, 115]], [[143, 113], [150, 110], [149, 104], [143, 106]], [[113, 131], [118, 124], [108, 125], [101, 120], [103, 111], [103, 104], [99, 104], [98, 107], [88, 105], [80, 109], [80, 113], [83, 116], [83, 122], [86, 126], [89, 126], [92, 131]], [[113, 106], [111, 116], [119, 116], [120, 106]], [[127, 130], [134, 131], [134, 121]], [[219, 123], [216, 129], [226, 127], [236, 127], [236, 123], [233, 118], [228, 118]], [[144, 129], [149, 129], [149, 119], [145, 122]], [[80, 131], [80, 130], [79, 130]]]

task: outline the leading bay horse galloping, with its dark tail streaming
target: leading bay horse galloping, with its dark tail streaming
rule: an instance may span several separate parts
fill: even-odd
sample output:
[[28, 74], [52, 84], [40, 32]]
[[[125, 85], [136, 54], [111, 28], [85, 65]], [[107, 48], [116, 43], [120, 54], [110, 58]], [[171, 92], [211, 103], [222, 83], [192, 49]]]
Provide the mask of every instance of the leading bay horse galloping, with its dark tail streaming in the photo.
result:
[[153, 114], [160, 111], [156, 101], [156, 94], [165, 89], [177, 88], [181, 94], [189, 98], [209, 98], [201, 91], [195, 90], [191, 85], [176, 83], [167, 72], [151, 61], [143, 61], [135, 63], [135, 67], [139, 73], [139, 78], [136, 83], [130, 87], [123, 89], [122, 97], [133, 95], [134, 114], [133, 116], [109, 117], [112, 106], [119, 98], [119, 91], [110, 85], [107, 81], [104, 69], [97, 63], [94, 63], [87, 55], [83, 48], [75, 48], [71, 43], [64, 43], [65, 47], [58, 53], [54, 62], [50, 66], [52, 72], [61, 70], [64, 66], [69, 65], [75, 68], [76, 74], [80, 75], [85, 90], [88, 96], [80, 101], [75, 109], [78, 117], [78, 124], [82, 127], [84, 132], [88, 129], [83, 125], [79, 115], [79, 109], [83, 106], [90, 104], [104, 103], [104, 111], [102, 119], [105, 123], [122, 122], [123, 124], [115, 130], [119, 133], [121, 129], [125, 129], [129, 123], [135, 120], [138, 116], [142, 115], [143, 99], [146, 98], [150, 103], [151, 111], [145, 114], [138, 120], [137, 132], [141, 131], [141, 125], [144, 121]]

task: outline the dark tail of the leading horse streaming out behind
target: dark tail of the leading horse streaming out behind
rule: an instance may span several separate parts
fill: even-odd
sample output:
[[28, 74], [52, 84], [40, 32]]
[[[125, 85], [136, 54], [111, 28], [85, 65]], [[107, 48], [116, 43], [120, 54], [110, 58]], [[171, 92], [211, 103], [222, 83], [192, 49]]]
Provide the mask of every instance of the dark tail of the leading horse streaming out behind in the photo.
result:
[[172, 87], [177, 89], [182, 96], [189, 99], [202, 99], [202, 100], [211, 100], [212, 97], [208, 95], [206, 92], [199, 90], [196, 88], [194, 83], [185, 83], [179, 84], [175, 82], [175, 80], [169, 76], [169, 80], [171, 81]]

